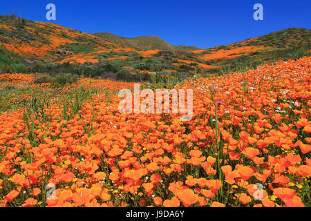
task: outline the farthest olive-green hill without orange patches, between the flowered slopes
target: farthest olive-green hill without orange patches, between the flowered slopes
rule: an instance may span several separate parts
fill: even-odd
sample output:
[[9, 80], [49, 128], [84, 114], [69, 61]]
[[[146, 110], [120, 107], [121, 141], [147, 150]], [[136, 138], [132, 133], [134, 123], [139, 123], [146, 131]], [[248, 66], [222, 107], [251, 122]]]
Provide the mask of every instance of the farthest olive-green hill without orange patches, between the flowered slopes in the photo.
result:
[[171, 44], [167, 43], [158, 36], [138, 36], [133, 38], [128, 37], [119, 37], [117, 35], [113, 35], [108, 32], [102, 33], [94, 33], [97, 37], [101, 37], [102, 39], [109, 40], [115, 44], [119, 44], [120, 46], [124, 47], [131, 47], [131, 48], [140, 48], [144, 50], [170, 50], [170, 51], [182, 51], [187, 52], [189, 50], [198, 50], [194, 46], [172, 46]]

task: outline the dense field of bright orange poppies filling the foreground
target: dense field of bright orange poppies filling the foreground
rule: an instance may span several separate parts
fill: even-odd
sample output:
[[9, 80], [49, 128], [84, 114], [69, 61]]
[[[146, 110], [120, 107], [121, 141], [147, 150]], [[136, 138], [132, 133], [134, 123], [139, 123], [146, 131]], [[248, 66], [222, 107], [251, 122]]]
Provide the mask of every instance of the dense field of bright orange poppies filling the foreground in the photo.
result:
[[133, 83], [0, 75], [0, 206], [311, 206], [310, 68], [191, 77], [187, 122], [120, 113]]

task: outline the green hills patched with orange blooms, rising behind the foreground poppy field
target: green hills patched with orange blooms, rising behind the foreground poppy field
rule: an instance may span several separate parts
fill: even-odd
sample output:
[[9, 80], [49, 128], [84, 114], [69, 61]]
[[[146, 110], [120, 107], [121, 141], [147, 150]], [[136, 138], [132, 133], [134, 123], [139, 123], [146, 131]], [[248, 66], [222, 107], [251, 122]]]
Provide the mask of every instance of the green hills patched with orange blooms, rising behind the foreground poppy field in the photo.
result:
[[308, 29], [288, 28], [198, 49], [172, 46], [156, 36], [95, 35], [55, 23], [0, 16], [0, 73], [74, 73], [129, 81], [149, 79], [150, 73], [178, 78], [224, 74], [310, 55], [311, 39]]

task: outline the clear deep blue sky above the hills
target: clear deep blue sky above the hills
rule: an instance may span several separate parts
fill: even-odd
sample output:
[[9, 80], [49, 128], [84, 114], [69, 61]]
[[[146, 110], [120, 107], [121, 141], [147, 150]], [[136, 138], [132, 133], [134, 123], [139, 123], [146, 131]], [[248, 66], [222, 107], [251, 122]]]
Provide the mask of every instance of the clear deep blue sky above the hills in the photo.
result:
[[[310, 0], [1, 0], [0, 15], [46, 21], [54, 3], [55, 23], [82, 32], [111, 32], [122, 37], [157, 35], [173, 45], [210, 48], [258, 37], [276, 30], [311, 29]], [[255, 3], [263, 21], [255, 21]]]

